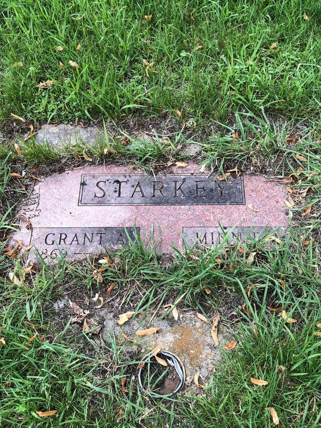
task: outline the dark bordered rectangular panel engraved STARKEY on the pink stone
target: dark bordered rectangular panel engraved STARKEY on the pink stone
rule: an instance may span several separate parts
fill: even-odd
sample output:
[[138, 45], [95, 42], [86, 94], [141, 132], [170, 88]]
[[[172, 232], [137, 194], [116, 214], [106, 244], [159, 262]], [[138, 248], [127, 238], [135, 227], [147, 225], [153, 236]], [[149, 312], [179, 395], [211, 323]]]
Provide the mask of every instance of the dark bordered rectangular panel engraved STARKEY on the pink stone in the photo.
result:
[[245, 205], [244, 181], [200, 173], [82, 174], [78, 205]]

